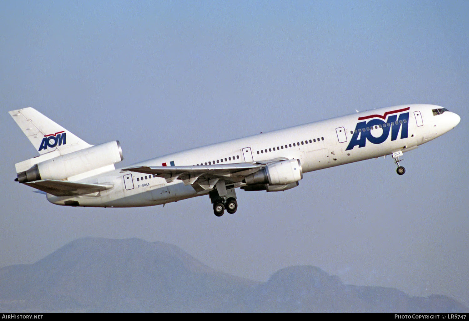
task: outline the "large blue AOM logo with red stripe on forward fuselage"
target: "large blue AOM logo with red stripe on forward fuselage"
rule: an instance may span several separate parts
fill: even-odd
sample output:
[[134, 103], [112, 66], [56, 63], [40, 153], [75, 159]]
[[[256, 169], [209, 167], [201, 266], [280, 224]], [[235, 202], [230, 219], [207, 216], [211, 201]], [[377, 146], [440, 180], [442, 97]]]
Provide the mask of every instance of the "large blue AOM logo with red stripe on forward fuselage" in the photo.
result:
[[[373, 144], [381, 144], [386, 141], [391, 131], [391, 140], [396, 140], [401, 130], [401, 139], [408, 137], [408, 121], [410, 107], [393, 110], [384, 113], [384, 115], [370, 115], [364, 117], [358, 117], [358, 120], [366, 120], [372, 118], [370, 121], [357, 122], [354, 134], [350, 139], [350, 143], [347, 146], [347, 151], [353, 149], [356, 145], [358, 148], [364, 147], [368, 140]], [[404, 113], [407, 111], [407, 113]], [[401, 113], [401, 114], [399, 114]], [[399, 118], [397, 117], [399, 114]], [[387, 116], [387, 119], [386, 119]], [[385, 121], [386, 120], [386, 121]], [[379, 129], [382, 129], [379, 130]], [[374, 136], [373, 134], [380, 134], [380, 136]]]

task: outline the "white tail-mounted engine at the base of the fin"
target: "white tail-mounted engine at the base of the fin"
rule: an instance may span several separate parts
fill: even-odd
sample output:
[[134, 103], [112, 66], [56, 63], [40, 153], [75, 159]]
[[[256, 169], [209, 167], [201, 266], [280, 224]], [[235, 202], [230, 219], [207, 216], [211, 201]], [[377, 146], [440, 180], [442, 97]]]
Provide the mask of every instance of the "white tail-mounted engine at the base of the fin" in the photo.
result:
[[42, 161], [18, 173], [17, 180], [19, 183], [41, 179], [64, 180], [97, 168], [113, 166], [123, 159], [121, 145], [115, 140]]

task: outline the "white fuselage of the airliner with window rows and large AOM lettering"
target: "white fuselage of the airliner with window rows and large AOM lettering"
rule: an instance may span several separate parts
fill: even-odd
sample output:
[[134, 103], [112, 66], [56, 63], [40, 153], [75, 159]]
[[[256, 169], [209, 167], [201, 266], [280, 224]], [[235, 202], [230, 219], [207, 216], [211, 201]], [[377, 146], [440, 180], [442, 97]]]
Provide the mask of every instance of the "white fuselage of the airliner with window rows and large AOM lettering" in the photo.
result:
[[[441, 136], [460, 121], [455, 113], [434, 115], [435, 105], [402, 105], [311, 122], [282, 130], [238, 138], [145, 160], [132, 166], [195, 166], [298, 159], [303, 173], [406, 152]], [[363, 131], [362, 131], [363, 127]], [[367, 129], [368, 127], [368, 129]], [[126, 182], [124, 182], [126, 180]], [[182, 181], [115, 169], [79, 182], [113, 184], [107, 191], [47, 199], [58, 205], [78, 201], [79, 206], [152, 206], [206, 195]], [[243, 186], [239, 183], [234, 187]]]

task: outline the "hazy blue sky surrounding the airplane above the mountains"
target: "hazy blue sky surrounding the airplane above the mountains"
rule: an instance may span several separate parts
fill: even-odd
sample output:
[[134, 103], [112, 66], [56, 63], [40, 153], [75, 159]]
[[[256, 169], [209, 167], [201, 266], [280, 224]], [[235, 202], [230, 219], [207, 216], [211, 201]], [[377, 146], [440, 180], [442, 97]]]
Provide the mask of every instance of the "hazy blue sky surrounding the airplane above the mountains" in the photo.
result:
[[[3, 1], [0, 266], [78, 237], [180, 246], [265, 281], [310, 264], [344, 282], [469, 305], [468, 1]], [[35, 107], [139, 160], [260, 131], [434, 103], [461, 123], [404, 154], [306, 174], [285, 192], [162, 206], [55, 206], [13, 179], [37, 155], [8, 111]]]

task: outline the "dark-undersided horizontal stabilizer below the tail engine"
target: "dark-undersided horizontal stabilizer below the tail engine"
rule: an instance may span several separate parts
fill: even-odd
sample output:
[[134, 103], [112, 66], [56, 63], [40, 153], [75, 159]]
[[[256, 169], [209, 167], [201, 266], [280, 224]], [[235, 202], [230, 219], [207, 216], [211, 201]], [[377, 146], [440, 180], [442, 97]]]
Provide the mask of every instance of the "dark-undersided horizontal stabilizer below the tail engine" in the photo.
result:
[[76, 196], [95, 193], [98, 191], [106, 191], [113, 188], [113, 185], [110, 184], [87, 184], [68, 181], [56, 181], [52, 179], [45, 179], [23, 184], [34, 187], [40, 191], [45, 191], [46, 193], [55, 196]]

